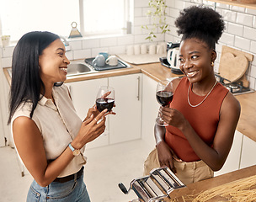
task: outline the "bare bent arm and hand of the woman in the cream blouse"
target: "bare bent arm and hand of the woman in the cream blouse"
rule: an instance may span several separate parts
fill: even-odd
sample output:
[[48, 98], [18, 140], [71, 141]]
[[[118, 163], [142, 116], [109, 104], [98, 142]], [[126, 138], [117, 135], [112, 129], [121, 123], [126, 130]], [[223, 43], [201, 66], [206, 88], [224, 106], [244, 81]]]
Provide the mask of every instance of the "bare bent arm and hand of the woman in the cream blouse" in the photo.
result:
[[[96, 120], [103, 117], [99, 124], [93, 116], [82, 123], [78, 135], [71, 143], [74, 148], [81, 149], [86, 143], [93, 141], [104, 132], [105, 112], [106, 110], [95, 117]], [[21, 116], [13, 121], [13, 139], [25, 167], [42, 187], [47, 186], [57, 178], [74, 157], [67, 146], [56, 160], [48, 164], [40, 130], [35, 122], [28, 117]]]

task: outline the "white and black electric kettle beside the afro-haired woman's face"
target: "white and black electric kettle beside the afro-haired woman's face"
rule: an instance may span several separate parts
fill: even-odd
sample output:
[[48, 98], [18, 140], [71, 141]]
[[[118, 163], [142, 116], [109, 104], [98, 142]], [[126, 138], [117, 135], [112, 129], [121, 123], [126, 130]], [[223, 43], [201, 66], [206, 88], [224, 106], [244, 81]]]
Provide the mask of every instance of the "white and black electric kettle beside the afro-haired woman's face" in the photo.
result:
[[182, 74], [179, 69], [179, 43], [167, 43], [167, 61], [173, 73]]

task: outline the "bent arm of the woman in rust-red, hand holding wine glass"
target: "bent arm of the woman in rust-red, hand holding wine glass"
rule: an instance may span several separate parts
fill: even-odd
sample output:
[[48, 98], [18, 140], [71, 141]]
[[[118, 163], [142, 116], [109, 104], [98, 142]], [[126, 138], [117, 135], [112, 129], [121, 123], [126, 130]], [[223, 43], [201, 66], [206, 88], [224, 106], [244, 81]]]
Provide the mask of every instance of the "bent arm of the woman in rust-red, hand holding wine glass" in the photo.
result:
[[216, 130], [213, 146], [208, 146], [179, 111], [163, 108], [163, 120], [181, 130], [200, 157], [213, 171], [218, 171], [227, 159], [231, 149], [234, 132], [240, 116], [240, 104], [231, 93], [227, 93], [221, 105], [220, 121]]

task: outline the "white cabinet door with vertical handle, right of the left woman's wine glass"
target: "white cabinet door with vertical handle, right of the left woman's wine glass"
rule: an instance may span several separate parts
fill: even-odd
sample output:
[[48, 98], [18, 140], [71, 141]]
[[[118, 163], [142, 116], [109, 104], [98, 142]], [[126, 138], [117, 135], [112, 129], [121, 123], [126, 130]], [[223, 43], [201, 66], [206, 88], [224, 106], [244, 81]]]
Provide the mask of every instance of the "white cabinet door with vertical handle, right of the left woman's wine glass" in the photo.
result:
[[109, 77], [115, 115], [109, 115], [109, 144], [141, 138], [141, 73]]

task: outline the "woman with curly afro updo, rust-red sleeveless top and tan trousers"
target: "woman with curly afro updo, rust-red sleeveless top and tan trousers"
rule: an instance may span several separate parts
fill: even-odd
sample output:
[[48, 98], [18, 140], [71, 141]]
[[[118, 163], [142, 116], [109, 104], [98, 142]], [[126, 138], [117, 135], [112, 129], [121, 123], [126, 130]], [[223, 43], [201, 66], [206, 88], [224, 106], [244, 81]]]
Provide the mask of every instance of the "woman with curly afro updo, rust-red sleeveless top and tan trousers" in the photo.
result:
[[168, 166], [188, 184], [213, 177], [213, 171], [223, 166], [232, 147], [240, 104], [214, 74], [216, 43], [225, 27], [221, 15], [193, 6], [180, 12], [175, 25], [182, 35], [179, 68], [185, 77], [168, 85], [173, 101], [160, 109], [168, 126], [155, 125], [157, 146], [145, 162], [144, 173]]

